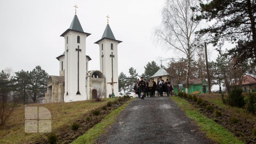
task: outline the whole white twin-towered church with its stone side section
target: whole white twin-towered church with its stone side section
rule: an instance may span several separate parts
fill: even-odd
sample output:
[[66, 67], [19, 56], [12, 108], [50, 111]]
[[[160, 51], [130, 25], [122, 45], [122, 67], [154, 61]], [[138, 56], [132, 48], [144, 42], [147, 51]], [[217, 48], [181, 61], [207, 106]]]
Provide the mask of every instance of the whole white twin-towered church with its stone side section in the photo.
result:
[[117, 46], [122, 41], [116, 40], [108, 22], [103, 36], [95, 42], [100, 49], [100, 70], [88, 70], [92, 59], [86, 55], [86, 38], [90, 33], [84, 32], [76, 14], [60, 36], [64, 37], [65, 47], [64, 53], [57, 57], [59, 76], [49, 76], [45, 103], [95, 99], [98, 89], [106, 90], [104, 97], [118, 96]]

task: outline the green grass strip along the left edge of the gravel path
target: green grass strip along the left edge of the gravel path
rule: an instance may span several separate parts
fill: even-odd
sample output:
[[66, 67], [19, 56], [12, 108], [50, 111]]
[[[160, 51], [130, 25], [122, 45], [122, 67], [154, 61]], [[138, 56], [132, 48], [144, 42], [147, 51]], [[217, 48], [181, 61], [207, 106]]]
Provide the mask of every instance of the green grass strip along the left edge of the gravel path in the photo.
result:
[[102, 135], [108, 126], [113, 124], [116, 121], [117, 115], [128, 105], [129, 102], [133, 101], [134, 98], [128, 100], [124, 105], [121, 107], [113, 110], [110, 114], [108, 114], [102, 121], [96, 124], [94, 127], [89, 129], [85, 134], [78, 137], [74, 140], [71, 144], [93, 144], [96, 142], [97, 138]]

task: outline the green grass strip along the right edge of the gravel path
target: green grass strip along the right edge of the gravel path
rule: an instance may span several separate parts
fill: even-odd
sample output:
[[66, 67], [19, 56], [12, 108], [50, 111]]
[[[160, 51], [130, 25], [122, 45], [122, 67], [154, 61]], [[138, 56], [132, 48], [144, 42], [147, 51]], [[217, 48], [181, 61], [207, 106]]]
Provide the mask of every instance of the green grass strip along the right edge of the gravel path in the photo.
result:
[[170, 97], [178, 107], [185, 111], [189, 118], [192, 118], [197, 122], [197, 125], [203, 132], [206, 133], [207, 137], [212, 139], [216, 143], [221, 144], [244, 144], [238, 138], [234, 137], [231, 132], [226, 130], [224, 127], [215, 123], [212, 119], [207, 118], [202, 113], [194, 108], [190, 103], [180, 97]]

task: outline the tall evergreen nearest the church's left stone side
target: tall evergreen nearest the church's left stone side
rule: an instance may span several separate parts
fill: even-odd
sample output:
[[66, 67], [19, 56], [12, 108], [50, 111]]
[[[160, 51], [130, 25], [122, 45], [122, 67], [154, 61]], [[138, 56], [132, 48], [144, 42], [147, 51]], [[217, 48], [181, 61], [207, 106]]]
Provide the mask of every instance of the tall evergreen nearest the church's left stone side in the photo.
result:
[[30, 71], [29, 77], [31, 80], [31, 98], [33, 103], [36, 103], [43, 100], [45, 96], [44, 94], [47, 91], [47, 81], [49, 75], [41, 68], [40, 65], [38, 65], [36, 68]]

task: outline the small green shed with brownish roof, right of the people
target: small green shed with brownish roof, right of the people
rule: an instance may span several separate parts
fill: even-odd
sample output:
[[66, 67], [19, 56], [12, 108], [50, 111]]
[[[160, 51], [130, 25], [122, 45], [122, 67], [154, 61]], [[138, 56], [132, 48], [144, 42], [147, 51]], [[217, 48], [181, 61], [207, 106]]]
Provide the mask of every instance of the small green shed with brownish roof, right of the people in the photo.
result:
[[[182, 82], [183, 89], [182, 92], [186, 92], [186, 81]], [[178, 84], [174, 85], [174, 92], [178, 94]], [[207, 80], [206, 79], [189, 79], [188, 80], [188, 94], [192, 94], [192, 92], [199, 91], [200, 94], [205, 94], [208, 92], [207, 90]]]

